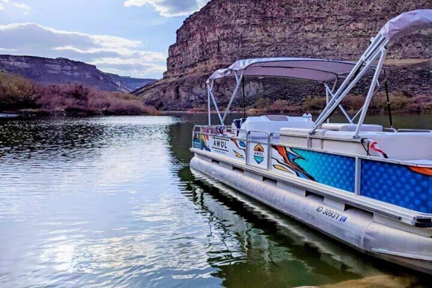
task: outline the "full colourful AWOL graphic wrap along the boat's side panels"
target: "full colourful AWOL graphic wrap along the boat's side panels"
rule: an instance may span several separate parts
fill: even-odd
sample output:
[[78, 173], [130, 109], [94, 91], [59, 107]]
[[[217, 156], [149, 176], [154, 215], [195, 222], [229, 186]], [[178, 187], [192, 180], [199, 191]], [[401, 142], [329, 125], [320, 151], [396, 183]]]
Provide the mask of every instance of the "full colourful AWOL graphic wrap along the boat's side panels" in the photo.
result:
[[[236, 139], [217, 141], [218, 137], [197, 133], [194, 147], [222, 153], [244, 163], [248, 150], [248, 165], [267, 168], [269, 149], [266, 144], [249, 143], [246, 149], [246, 143]], [[289, 173], [348, 193], [355, 192], [355, 157], [277, 145], [272, 146], [271, 155], [270, 169], [275, 172]], [[362, 159], [360, 173], [360, 195], [432, 213], [431, 168]]]

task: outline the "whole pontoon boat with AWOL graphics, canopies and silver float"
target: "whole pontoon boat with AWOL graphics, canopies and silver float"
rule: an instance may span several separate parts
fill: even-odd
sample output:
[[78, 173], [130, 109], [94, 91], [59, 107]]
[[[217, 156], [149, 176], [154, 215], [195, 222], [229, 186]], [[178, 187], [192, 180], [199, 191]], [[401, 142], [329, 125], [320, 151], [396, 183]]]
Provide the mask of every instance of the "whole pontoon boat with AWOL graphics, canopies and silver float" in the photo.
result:
[[[364, 253], [432, 274], [432, 130], [364, 124], [389, 76], [387, 45], [431, 28], [432, 10], [416, 10], [390, 20], [358, 62], [247, 59], [215, 71], [207, 81], [208, 125], [193, 130], [191, 167]], [[350, 118], [342, 100], [367, 76], [363, 107]], [[226, 77], [236, 87], [222, 114], [213, 85]], [[321, 83], [327, 106], [315, 121], [267, 115], [226, 125], [245, 77]], [[328, 121], [337, 109], [347, 123]]]

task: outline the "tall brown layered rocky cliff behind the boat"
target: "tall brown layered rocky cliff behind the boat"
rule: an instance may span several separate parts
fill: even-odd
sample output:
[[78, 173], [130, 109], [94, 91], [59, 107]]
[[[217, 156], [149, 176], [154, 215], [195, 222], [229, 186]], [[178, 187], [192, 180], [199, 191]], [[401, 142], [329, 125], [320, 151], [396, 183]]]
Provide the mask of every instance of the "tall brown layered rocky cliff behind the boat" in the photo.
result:
[[[212, 0], [188, 17], [177, 31], [177, 41], [169, 49], [164, 78], [134, 93], [147, 103], [167, 109], [199, 106], [206, 99], [204, 83], [208, 75], [238, 59], [357, 60], [370, 37], [390, 18], [405, 11], [431, 7], [431, 0]], [[390, 83], [391, 90], [407, 94], [430, 92], [430, 88], [416, 88], [409, 81], [420, 76], [430, 83], [430, 62], [421, 64], [432, 56], [430, 47], [430, 31], [391, 44], [388, 59], [395, 66], [396, 75]], [[412, 66], [413, 63], [421, 65]], [[300, 102], [316, 88], [310, 85], [307, 90], [288, 92], [284, 83], [255, 80], [247, 83], [247, 91], [261, 96], [271, 87], [275, 92], [277, 85], [278, 97]], [[215, 87], [221, 100], [227, 98], [230, 89], [227, 82]]]

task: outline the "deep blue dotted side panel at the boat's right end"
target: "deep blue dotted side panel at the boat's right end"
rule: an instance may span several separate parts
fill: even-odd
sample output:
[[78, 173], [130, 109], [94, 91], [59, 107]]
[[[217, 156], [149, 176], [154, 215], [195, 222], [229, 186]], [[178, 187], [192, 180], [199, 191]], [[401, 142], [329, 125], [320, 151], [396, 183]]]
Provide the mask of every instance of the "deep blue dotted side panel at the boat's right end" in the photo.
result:
[[418, 212], [432, 213], [432, 176], [408, 166], [363, 160], [361, 195]]

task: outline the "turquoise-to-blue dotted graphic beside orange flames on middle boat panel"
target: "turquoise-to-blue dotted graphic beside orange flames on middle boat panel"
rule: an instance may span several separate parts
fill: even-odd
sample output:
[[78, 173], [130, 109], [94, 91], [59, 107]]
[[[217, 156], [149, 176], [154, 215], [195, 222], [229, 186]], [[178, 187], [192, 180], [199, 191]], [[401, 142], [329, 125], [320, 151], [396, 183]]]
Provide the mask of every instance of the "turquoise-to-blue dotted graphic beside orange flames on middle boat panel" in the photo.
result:
[[301, 158], [295, 159], [315, 181], [354, 193], [356, 160], [352, 157], [291, 148]]

